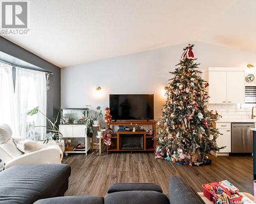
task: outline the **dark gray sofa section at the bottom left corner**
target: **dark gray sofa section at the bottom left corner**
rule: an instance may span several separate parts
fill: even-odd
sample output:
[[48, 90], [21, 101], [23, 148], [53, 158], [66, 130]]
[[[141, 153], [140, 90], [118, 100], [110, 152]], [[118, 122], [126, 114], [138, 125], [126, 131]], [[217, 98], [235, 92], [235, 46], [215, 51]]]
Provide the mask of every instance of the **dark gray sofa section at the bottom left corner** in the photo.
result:
[[0, 172], [0, 203], [32, 204], [36, 200], [63, 196], [71, 168], [67, 164], [21, 164]]

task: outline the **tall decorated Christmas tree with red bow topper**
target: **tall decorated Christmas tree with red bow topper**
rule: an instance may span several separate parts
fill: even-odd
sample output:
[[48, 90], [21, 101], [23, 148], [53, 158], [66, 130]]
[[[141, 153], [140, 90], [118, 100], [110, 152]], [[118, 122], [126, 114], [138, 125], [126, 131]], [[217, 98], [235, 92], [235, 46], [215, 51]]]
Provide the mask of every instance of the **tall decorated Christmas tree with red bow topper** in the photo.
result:
[[211, 123], [214, 115], [206, 106], [208, 83], [201, 78], [193, 46], [184, 48], [180, 63], [170, 72], [174, 78], [165, 87], [166, 102], [158, 120], [157, 138], [161, 150], [167, 150], [167, 160], [199, 165], [206, 154], [220, 148], [216, 144], [219, 132]]

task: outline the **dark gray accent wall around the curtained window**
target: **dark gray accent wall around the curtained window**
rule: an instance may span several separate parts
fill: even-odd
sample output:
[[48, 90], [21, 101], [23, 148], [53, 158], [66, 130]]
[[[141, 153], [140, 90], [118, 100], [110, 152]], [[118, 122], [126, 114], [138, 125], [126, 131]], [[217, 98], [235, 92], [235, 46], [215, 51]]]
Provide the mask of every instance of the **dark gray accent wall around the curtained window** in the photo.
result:
[[1, 36], [0, 51], [39, 67], [38, 70], [43, 69], [53, 73], [49, 77], [50, 90], [47, 91], [47, 116], [50, 119], [56, 117], [60, 108], [60, 68]]

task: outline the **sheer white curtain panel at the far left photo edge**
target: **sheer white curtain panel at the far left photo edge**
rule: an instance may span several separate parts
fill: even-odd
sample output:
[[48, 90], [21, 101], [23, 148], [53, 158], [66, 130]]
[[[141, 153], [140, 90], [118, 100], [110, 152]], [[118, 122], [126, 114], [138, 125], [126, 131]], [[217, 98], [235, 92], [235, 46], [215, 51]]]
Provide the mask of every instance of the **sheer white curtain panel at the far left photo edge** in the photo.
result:
[[14, 99], [12, 66], [0, 63], [0, 123], [7, 123], [16, 134], [18, 125]]

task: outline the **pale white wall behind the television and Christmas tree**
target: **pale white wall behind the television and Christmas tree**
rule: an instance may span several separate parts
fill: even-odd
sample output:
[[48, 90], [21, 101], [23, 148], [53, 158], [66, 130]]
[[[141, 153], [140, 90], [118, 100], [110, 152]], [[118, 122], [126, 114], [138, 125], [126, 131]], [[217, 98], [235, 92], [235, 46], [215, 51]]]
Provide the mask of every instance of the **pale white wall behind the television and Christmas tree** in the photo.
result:
[[[195, 44], [194, 54], [201, 63], [200, 69], [256, 65], [255, 53], [202, 42]], [[104, 109], [109, 106], [109, 94], [155, 94], [157, 119], [165, 101], [164, 86], [172, 78], [168, 72], [179, 63], [184, 46], [186, 44], [62, 68], [61, 107], [91, 105], [91, 109], [97, 106]], [[102, 88], [101, 95], [96, 95], [97, 86]]]

